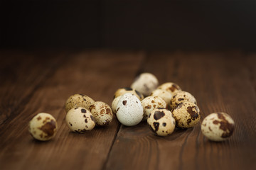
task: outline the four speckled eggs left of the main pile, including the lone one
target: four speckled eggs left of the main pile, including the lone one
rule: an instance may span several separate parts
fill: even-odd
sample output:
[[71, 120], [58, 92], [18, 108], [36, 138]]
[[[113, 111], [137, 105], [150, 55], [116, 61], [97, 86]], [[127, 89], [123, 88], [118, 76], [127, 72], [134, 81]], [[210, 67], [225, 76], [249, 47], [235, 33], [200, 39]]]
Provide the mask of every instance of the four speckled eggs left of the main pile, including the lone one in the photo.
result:
[[[73, 132], [83, 133], [95, 126], [107, 126], [113, 118], [112, 108], [89, 96], [74, 94], [65, 102], [65, 122]], [[28, 124], [28, 131], [36, 140], [46, 141], [56, 134], [57, 123], [49, 113], [38, 113]]]

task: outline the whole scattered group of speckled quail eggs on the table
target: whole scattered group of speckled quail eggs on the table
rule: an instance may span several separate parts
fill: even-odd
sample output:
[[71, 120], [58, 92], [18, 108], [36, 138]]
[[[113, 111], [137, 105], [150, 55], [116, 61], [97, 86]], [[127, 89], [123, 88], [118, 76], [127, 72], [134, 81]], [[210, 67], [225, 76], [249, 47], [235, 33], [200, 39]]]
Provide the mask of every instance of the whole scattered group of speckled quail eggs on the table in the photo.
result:
[[[149, 129], [159, 136], [170, 135], [175, 128], [193, 128], [201, 119], [192, 94], [173, 82], [159, 85], [151, 73], [139, 74], [130, 87], [117, 89], [111, 107], [89, 96], [74, 94], [65, 102], [65, 111], [68, 128], [78, 133], [109, 125], [113, 113], [126, 126], [146, 120]], [[227, 139], [234, 129], [234, 120], [222, 112], [211, 113], [201, 123], [201, 132], [213, 141]], [[50, 140], [56, 134], [57, 123], [52, 115], [38, 113], [29, 122], [28, 131], [36, 140]]]

